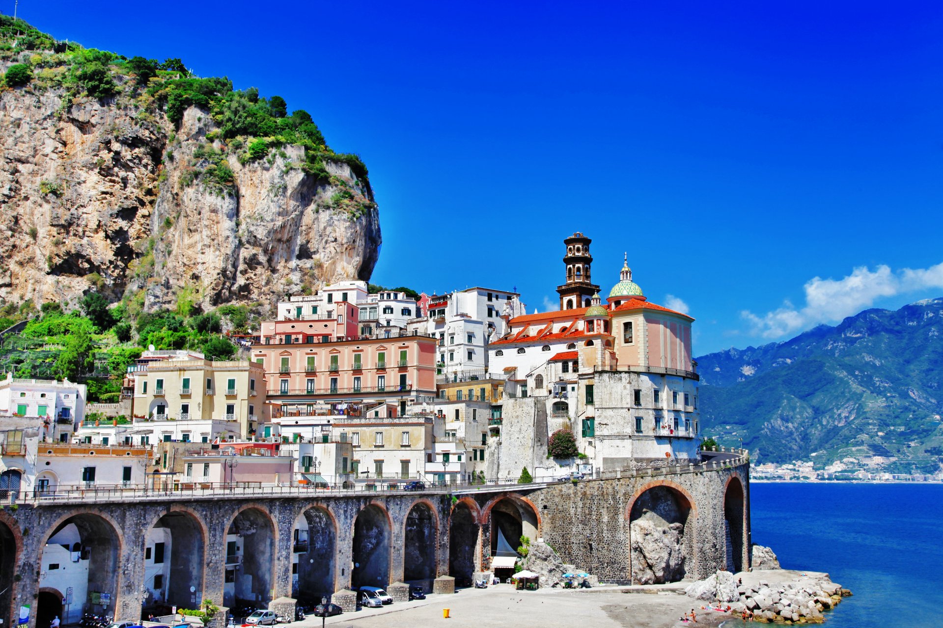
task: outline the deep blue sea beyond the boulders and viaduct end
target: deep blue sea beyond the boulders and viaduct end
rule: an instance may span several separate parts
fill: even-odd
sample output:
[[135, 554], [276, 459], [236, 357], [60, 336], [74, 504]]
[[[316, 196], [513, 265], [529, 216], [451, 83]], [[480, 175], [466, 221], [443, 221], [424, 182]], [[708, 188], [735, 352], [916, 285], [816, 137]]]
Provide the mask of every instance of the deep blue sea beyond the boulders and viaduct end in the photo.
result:
[[943, 485], [752, 483], [753, 542], [854, 594], [827, 628], [943, 627]]

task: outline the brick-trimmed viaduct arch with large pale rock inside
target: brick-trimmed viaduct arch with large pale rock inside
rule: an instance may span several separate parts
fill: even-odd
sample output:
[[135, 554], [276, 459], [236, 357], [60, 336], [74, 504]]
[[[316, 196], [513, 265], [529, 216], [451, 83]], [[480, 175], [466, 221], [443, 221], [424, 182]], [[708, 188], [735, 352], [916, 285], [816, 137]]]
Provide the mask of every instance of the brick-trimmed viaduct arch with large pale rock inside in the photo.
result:
[[670, 480], [655, 480], [629, 501], [629, 573], [636, 584], [677, 582], [697, 573], [697, 506]]

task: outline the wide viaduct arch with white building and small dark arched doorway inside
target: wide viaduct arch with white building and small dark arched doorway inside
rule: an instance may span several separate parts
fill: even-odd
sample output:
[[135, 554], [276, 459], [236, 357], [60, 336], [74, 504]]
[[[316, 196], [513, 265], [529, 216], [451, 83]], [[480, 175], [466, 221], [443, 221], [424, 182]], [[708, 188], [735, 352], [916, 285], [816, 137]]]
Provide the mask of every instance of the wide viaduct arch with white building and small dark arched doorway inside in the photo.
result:
[[64, 612], [59, 619], [65, 624], [81, 620], [83, 606], [91, 613], [114, 612], [120, 553], [118, 533], [104, 517], [82, 513], [59, 523], [42, 548], [39, 584], [57, 591], [72, 588], [74, 602], [63, 611], [61, 597], [37, 598], [37, 617]]

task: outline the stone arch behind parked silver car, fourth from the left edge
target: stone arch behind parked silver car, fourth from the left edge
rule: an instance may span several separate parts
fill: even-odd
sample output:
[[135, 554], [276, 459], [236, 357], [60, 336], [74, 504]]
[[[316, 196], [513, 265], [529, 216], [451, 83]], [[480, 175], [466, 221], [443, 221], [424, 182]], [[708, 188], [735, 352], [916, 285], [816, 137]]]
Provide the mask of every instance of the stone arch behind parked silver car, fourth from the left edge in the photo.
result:
[[278, 528], [266, 507], [245, 504], [230, 517], [223, 567], [224, 606], [268, 606], [272, 601], [277, 547]]

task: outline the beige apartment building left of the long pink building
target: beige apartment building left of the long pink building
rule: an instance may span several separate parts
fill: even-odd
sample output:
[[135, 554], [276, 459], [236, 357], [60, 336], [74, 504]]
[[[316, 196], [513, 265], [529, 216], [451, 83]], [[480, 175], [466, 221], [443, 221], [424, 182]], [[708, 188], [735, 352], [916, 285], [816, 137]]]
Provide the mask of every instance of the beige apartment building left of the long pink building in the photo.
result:
[[265, 371], [248, 360], [165, 360], [135, 374], [135, 419], [236, 421], [255, 433], [265, 408]]

